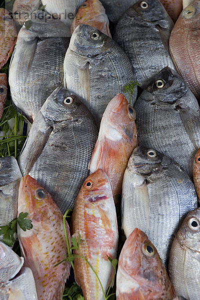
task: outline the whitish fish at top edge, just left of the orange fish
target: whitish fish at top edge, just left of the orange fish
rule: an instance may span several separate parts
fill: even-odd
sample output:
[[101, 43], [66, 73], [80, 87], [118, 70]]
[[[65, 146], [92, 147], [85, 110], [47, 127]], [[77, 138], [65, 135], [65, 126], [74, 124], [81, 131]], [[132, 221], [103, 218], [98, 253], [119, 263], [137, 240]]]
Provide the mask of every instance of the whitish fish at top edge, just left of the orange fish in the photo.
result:
[[85, 0], [41, 0], [41, 3], [45, 5], [45, 10], [51, 13], [54, 18], [60, 19], [70, 28], [77, 8], [84, 1]]

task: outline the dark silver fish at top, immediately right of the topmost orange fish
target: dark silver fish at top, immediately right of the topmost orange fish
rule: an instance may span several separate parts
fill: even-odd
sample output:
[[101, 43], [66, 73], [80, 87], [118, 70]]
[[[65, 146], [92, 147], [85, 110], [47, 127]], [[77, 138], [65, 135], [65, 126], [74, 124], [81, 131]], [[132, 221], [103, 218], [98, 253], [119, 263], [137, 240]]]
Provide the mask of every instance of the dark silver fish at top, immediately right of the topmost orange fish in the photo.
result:
[[116, 25], [113, 38], [130, 58], [142, 89], [164, 66], [174, 68], [168, 50], [172, 27], [159, 0], [137, 1]]

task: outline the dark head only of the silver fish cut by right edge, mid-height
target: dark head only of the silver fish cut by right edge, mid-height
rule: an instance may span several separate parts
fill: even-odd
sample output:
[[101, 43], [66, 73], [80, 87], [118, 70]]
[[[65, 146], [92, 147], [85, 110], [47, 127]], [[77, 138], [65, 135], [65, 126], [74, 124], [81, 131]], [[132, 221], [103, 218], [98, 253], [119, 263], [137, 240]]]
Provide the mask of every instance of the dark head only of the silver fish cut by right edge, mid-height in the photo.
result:
[[151, 100], [153, 98], [156, 104], [160, 102], [174, 104], [185, 95], [187, 89], [182, 78], [168, 66], [154, 75], [146, 88], [151, 94]]

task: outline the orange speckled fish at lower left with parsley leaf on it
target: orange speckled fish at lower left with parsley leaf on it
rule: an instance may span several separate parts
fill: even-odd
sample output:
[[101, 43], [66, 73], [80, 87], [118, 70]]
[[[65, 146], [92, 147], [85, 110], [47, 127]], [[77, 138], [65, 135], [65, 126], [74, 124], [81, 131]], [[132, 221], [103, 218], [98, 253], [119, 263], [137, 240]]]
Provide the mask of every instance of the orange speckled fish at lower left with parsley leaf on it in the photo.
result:
[[[28, 212], [33, 227], [23, 231], [17, 224], [17, 235], [24, 266], [33, 273], [37, 297], [61, 300], [70, 272], [70, 263], [62, 261], [67, 255], [63, 214], [50, 194], [29, 175], [22, 177], [19, 185], [18, 214], [22, 211]], [[70, 240], [67, 222], [65, 227]]]

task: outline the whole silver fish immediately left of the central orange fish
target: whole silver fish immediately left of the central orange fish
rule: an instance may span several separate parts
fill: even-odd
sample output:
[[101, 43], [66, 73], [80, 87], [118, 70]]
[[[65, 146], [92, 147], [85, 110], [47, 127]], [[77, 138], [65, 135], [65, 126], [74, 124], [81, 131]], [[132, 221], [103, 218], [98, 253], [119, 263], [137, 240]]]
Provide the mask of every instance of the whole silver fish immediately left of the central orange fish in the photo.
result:
[[64, 213], [73, 208], [88, 175], [96, 139], [88, 109], [76, 95], [57, 87], [38, 112], [19, 156], [22, 175], [35, 178]]

